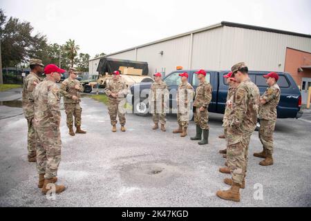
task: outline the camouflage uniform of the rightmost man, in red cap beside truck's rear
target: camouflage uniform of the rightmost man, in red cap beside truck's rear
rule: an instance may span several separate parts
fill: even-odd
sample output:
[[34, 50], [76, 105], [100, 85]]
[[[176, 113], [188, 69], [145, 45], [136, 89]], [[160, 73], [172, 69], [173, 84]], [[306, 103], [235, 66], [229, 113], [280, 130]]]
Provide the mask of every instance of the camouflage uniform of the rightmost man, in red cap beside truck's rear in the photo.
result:
[[278, 84], [274, 84], [265, 90], [261, 98], [266, 103], [261, 104], [259, 108], [259, 119], [261, 128], [259, 130], [259, 139], [263, 144], [263, 150], [272, 155], [273, 153], [273, 133], [276, 123], [276, 107], [280, 101], [281, 90]]

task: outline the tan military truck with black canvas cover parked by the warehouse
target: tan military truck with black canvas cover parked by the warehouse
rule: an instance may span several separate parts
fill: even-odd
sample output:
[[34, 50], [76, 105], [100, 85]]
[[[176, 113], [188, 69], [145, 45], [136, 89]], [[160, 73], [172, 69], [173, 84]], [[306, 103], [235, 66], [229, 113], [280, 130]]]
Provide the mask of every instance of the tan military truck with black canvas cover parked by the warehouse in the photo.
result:
[[148, 76], [148, 63], [143, 61], [131, 61], [124, 59], [112, 59], [104, 57], [100, 59], [97, 66], [98, 75], [93, 75], [92, 79], [82, 81], [85, 93], [91, 93], [93, 88], [106, 88], [109, 80], [112, 79], [112, 73], [119, 70], [121, 79], [129, 88], [133, 84], [143, 82], [153, 82]]

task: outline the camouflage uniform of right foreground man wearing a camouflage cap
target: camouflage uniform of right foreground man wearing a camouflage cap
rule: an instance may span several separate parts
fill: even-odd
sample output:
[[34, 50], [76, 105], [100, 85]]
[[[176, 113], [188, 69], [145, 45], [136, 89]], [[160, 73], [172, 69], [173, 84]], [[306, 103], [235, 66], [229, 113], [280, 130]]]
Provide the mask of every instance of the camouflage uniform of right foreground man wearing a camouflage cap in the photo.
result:
[[248, 146], [256, 128], [259, 90], [250, 79], [236, 88], [227, 129], [227, 164], [234, 183], [242, 184], [248, 160]]

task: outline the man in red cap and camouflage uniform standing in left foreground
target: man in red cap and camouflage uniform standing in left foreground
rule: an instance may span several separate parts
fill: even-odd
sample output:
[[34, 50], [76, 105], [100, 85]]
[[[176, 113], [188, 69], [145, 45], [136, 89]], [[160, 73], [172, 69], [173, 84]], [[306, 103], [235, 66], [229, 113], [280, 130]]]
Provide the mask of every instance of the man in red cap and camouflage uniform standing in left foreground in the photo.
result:
[[65, 190], [63, 185], [55, 185], [57, 170], [61, 160], [62, 140], [59, 131], [61, 113], [59, 110], [60, 94], [55, 82], [61, 79], [65, 70], [55, 64], [44, 68], [46, 79], [37, 85], [34, 92], [35, 116], [34, 125], [37, 136], [37, 171], [39, 173], [38, 187], [42, 193], [47, 193], [51, 185], [55, 193]]

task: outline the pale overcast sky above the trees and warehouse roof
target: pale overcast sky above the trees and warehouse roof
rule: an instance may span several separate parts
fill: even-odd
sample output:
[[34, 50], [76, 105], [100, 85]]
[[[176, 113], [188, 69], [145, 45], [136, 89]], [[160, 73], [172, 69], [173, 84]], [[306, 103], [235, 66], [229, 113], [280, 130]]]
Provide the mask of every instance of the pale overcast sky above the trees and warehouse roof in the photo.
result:
[[311, 34], [311, 0], [0, 0], [50, 43], [75, 39], [92, 57], [220, 21]]

